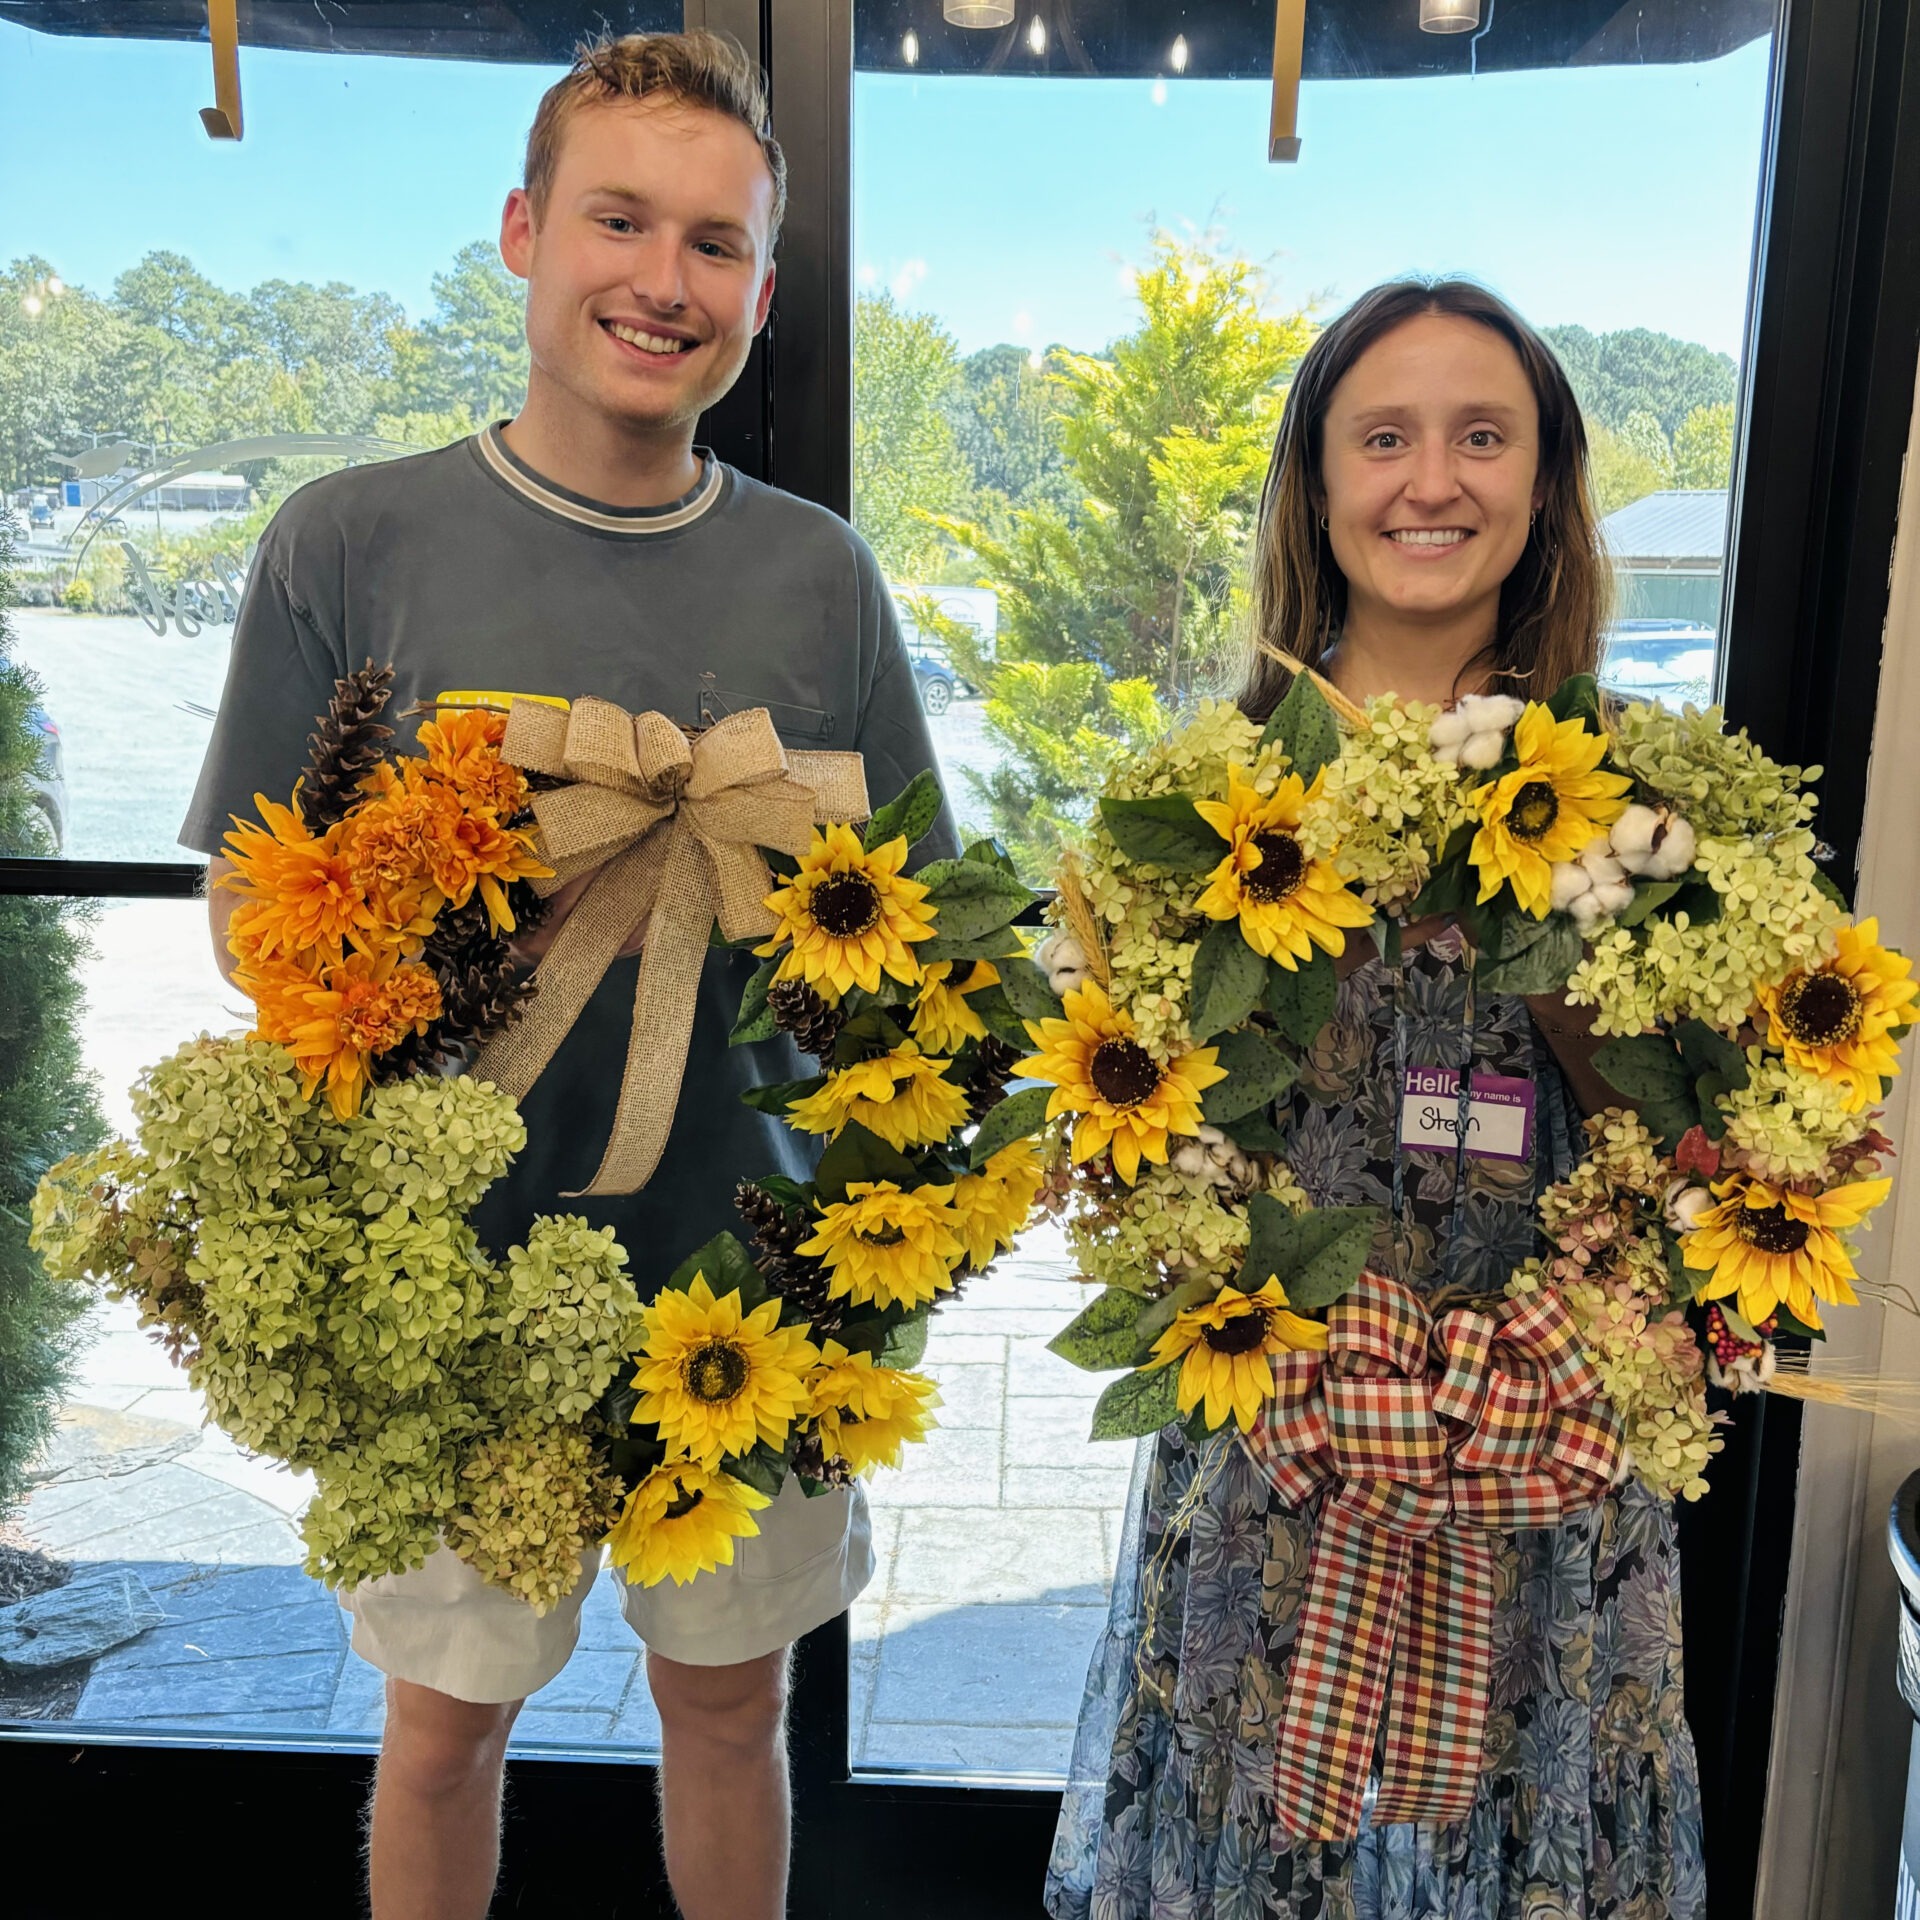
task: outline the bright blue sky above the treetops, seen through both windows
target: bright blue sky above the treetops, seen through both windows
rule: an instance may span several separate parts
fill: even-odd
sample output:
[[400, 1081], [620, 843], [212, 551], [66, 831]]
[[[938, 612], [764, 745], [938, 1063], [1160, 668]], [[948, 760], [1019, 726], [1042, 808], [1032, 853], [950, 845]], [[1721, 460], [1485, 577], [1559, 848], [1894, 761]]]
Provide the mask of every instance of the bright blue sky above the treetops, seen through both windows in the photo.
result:
[[[1542, 324], [1738, 351], [1766, 60], [1309, 84], [1294, 167], [1265, 161], [1261, 84], [862, 75], [856, 271], [964, 349], [1092, 348], [1160, 225], [1217, 230], [1286, 303], [1465, 271]], [[497, 230], [553, 75], [246, 50], [234, 148], [200, 129], [204, 46], [0, 25], [0, 259], [104, 290], [175, 248], [225, 286], [340, 278], [419, 315]]]

